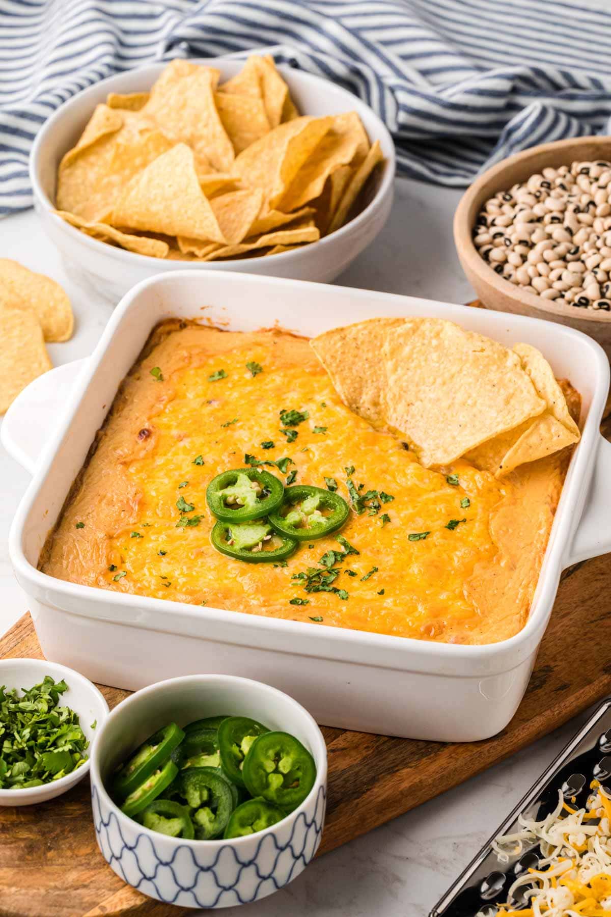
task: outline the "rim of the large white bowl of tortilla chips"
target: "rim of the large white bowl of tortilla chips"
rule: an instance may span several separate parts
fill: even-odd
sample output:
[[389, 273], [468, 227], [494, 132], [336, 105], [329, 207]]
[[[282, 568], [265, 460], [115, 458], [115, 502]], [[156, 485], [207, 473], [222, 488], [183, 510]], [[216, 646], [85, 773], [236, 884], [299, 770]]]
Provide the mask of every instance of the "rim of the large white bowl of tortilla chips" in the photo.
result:
[[[193, 63], [210, 65], [210, 64], [213, 64], [215, 61], [219, 61], [219, 60], [235, 61], [235, 60], [240, 60], [240, 59], [236, 59], [228, 55], [227, 57], [224, 57], [224, 58], [188, 58], [187, 60]], [[134, 71], [132, 71], [132, 73], [141, 74], [149, 70], [158, 71], [159, 67], [160, 67], [159, 63], [147, 64], [147, 66], [145, 67], [136, 68]], [[283, 72], [283, 73], [289, 72], [291, 76], [294, 76], [295, 80], [298, 82], [300, 80], [303, 80], [306, 83], [308, 82], [320, 83], [322, 93], [324, 92], [325, 84], [328, 83], [328, 81], [325, 80], [322, 76], [316, 76], [313, 73], [296, 71], [292, 67], [288, 67], [286, 64], [278, 65], [278, 71]], [[93, 86], [88, 86], [87, 89], [83, 89], [80, 93], [73, 95], [70, 99], [68, 99], [66, 102], [60, 105], [57, 111], [54, 112], [53, 115], [49, 117], [49, 119], [45, 122], [43, 127], [38, 131], [38, 135], [34, 140], [34, 144], [32, 146], [32, 150], [30, 153], [30, 160], [29, 160], [30, 162], [29, 178], [30, 178], [30, 181], [32, 182], [32, 186], [34, 188], [35, 195], [38, 195], [39, 201], [49, 211], [49, 214], [52, 215], [55, 219], [60, 220], [61, 223], [64, 226], [66, 226], [68, 230], [70, 230], [70, 233], [73, 237], [76, 238], [76, 234], [78, 234], [78, 238], [80, 239], [80, 241], [82, 241], [85, 245], [87, 245], [90, 249], [92, 249], [92, 251], [94, 252], [104, 251], [104, 253], [108, 254], [108, 249], [112, 249], [112, 253], [115, 255], [115, 257], [120, 260], [125, 260], [126, 263], [132, 263], [133, 260], [136, 259], [137, 263], [139, 264], [154, 267], [155, 265], [158, 265], [159, 260], [163, 260], [163, 259], [153, 258], [150, 255], [140, 255], [135, 251], [127, 251], [127, 249], [121, 249], [121, 248], [117, 248], [116, 246], [111, 246], [107, 242], [102, 242], [100, 239], [96, 239], [96, 238], [92, 238], [91, 236], [87, 236], [85, 233], [82, 233], [80, 229], [77, 229], [76, 226], [71, 226], [69, 223], [66, 223], [65, 220], [62, 220], [60, 216], [55, 214], [55, 210], [57, 208], [55, 204], [53, 204], [52, 201], [49, 199], [49, 195], [43, 190], [42, 182], [40, 182], [39, 177], [38, 177], [38, 173], [40, 169], [39, 148], [43, 143], [47, 130], [53, 127], [56, 124], [56, 122], [61, 120], [63, 117], [70, 116], [71, 106], [74, 104], [75, 100], [80, 100], [84, 94], [91, 93], [92, 90], [96, 91], [101, 85], [104, 85], [104, 83], [108, 83], [110, 81], [115, 80], [117, 76], [124, 76], [124, 75], [125, 74], [123, 73], [120, 73], [120, 74], [115, 73], [113, 76], [108, 76], [104, 80], [100, 80], [98, 83], [94, 83]], [[346, 98], [351, 101], [351, 104], [355, 106], [355, 109], [358, 109], [361, 105], [365, 105], [367, 108], [369, 108], [369, 106], [366, 105], [366, 102], [364, 102], [358, 96], [353, 95], [352, 93], [349, 93], [348, 90], [343, 89], [341, 86], [336, 86], [335, 84], [333, 84], [333, 88], [338, 93], [344, 94]], [[371, 116], [373, 116], [377, 121], [378, 131], [382, 135], [386, 135], [386, 138], [389, 144], [389, 149], [394, 149], [394, 142], [390, 136], [390, 133], [386, 125], [384, 124], [383, 121], [380, 120], [378, 116], [376, 116], [376, 113], [374, 112], [372, 108], [369, 108], [369, 111], [370, 111]], [[329, 245], [330, 242], [333, 242], [334, 240], [338, 238], [342, 238], [345, 235], [346, 231], [355, 230], [356, 228], [358, 228], [358, 226], [361, 226], [363, 223], [365, 223], [366, 219], [369, 218], [370, 211], [372, 210], [374, 205], [376, 205], [378, 201], [383, 198], [384, 194], [387, 191], [388, 185], [392, 184], [392, 182], [394, 182], [394, 179], [395, 179], [395, 157], [393, 153], [390, 158], [387, 158], [386, 163], [384, 163], [384, 171], [382, 174], [382, 180], [376, 188], [376, 193], [373, 195], [369, 203], [366, 204], [363, 210], [359, 214], [357, 214], [354, 217], [354, 219], [350, 220], [348, 223], [345, 223], [344, 226], [340, 226], [339, 229], [336, 229], [329, 236], [323, 236], [322, 238], [317, 239], [316, 242], [311, 242], [308, 244], [317, 245], [317, 246]], [[293, 255], [294, 255], [294, 251], [282, 251], [282, 252], [279, 252], [278, 255], [274, 255], [274, 258], [277, 258], [277, 259], [280, 258], [283, 260], [287, 260]], [[247, 259], [240, 258], [240, 259], [235, 259], [235, 260], [242, 262]], [[191, 263], [197, 263], [197, 262], [191, 262]], [[206, 262], [202, 261], [202, 266], [205, 267], [205, 265], [206, 265]], [[177, 262], [177, 270], [180, 270], [180, 261]]]

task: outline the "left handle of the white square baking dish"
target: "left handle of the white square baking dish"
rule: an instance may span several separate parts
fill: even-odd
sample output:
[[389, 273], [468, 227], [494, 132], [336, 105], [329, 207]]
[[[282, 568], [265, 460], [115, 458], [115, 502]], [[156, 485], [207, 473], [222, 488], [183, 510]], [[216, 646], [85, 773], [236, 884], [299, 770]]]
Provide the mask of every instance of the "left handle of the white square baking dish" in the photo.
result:
[[75, 359], [38, 376], [6, 411], [0, 430], [2, 445], [30, 474], [57, 429], [58, 416], [84, 363], [85, 359]]

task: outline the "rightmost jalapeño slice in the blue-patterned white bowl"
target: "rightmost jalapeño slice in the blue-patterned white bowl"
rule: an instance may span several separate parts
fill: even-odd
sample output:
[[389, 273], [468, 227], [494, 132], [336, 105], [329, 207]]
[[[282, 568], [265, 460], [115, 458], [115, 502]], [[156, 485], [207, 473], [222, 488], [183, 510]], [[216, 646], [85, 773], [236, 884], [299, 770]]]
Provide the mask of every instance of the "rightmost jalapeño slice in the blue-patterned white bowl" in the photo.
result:
[[251, 796], [262, 796], [290, 812], [314, 786], [316, 765], [294, 735], [265, 733], [250, 746], [242, 776]]

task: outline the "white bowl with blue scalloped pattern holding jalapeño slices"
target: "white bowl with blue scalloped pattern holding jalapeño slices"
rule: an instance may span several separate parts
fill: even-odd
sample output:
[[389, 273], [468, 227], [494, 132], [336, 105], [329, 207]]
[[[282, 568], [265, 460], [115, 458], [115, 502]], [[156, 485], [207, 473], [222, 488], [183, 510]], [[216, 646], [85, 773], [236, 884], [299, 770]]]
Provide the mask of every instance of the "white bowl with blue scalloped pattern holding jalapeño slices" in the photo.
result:
[[[149, 831], [128, 818], [104, 780], [161, 726], [204, 716], [249, 716], [295, 735], [316, 762], [308, 797], [265, 831], [230, 840], [189, 841]], [[138, 891], [186, 908], [224, 908], [265, 898], [310, 863], [321, 842], [327, 794], [327, 749], [310, 713], [276, 688], [232, 675], [188, 675], [159, 681], [120, 703], [92, 750], [93, 824], [115, 873]]]

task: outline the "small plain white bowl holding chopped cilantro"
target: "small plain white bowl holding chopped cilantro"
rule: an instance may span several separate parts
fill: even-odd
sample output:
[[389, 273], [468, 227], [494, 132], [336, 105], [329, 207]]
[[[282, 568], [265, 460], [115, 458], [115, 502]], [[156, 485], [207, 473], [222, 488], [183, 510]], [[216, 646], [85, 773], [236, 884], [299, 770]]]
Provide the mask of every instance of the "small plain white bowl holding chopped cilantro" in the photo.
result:
[[[89, 748], [85, 754], [87, 761], [80, 768], [66, 774], [52, 783], [45, 783], [41, 787], [29, 787], [27, 790], [0, 790], [0, 805], [33, 805], [37, 802], [46, 802], [55, 799], [66, 790], [82, 780], [89, 773], [93, 739], [97, 731], [102, 728], [108, 716], [108, 704], [103, 695], [97, 690], [93, 682], [84, 678], [73, 668], [60, 666], [57, 662], [47, 662], [46, 659], [3, 659], [0, 661], [0, 685], [6, 688], [16, 688], [18, 693], [23, 689], [32, 688], [39, 684], [45, 675], [60, 681], [64, 679], [68, 691], [64, 691], [60, 698], [60, 705], [71, 707], [79, 714], [79, 721], [83, 733], [89, 740]], [[95, 729], [93, 729], [93, 724]]]

